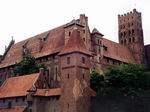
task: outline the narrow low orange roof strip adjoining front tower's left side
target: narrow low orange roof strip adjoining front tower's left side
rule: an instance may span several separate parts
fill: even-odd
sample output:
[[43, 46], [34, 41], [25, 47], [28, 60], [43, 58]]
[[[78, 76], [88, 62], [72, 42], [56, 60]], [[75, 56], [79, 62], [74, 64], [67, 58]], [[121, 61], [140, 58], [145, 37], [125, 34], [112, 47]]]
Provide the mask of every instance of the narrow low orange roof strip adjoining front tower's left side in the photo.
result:
[[61, 88], [37, 89], [34, 96], [58, 96], [61, 95]]

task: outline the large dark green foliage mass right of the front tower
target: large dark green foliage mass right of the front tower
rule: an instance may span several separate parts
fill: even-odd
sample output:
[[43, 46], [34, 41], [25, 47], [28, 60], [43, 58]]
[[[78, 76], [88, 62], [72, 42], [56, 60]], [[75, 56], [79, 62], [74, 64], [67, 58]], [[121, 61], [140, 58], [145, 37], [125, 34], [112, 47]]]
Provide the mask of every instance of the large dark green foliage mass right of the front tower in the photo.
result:
[[[91, 80], [95, 79], [91, 77]], [[120, 65], [109, 68], [105, 73], [104, 84], [99, 85], [99, 83], [98, 81], [95, 82], [95, 85], [98, 86], [96, 88], [98, 88], [99, 95], [146, 95], [150, 93], [150, 71], [143, 65]]]

